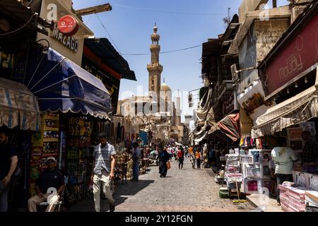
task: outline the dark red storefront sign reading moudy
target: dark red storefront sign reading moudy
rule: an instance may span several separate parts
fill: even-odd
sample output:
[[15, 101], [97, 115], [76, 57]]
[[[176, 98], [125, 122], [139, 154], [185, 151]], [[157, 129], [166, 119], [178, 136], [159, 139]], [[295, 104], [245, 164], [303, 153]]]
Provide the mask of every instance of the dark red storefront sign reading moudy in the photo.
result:
[[266, 63], [266, 95], [318, 62], [318, 14], [288, 44]]

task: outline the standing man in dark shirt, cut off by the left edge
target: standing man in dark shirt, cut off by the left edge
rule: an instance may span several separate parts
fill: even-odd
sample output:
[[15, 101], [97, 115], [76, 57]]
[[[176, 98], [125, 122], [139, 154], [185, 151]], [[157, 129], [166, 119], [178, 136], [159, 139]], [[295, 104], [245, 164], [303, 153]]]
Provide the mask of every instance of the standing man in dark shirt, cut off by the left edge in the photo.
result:
[[8, 211], [8, 191], [17, 165], [18, 156], [8, 141], [8, 132], [0, 131], [0, 212]]

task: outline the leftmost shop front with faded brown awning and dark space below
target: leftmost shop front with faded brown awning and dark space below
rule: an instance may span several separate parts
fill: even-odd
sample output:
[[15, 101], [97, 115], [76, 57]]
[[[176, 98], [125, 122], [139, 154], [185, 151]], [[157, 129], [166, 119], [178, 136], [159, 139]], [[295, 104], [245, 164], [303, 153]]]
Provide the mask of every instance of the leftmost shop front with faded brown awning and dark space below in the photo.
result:
[[25, 85], [0, 78], [0, 131], [8, 131], [9, 141], [18, 154], [18, 168], [9, 191], [9, 211], [25, 206], [28, 200], [28, 154], [31, 136], [42, 126], [40, 114], [37, 98]]

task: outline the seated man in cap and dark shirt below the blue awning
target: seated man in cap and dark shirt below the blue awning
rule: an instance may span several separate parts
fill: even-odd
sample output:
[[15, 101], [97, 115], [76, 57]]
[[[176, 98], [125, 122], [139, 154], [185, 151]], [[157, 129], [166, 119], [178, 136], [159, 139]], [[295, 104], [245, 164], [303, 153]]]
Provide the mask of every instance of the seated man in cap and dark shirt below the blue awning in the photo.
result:
[[64, 191], [64, 177], [57, 171], [57, 160], [55, 157], [47, 158], [47, 169], [40, 174], [35, 183], [36, 196], [29, 198], [28, 209], [37, 212], [37, 205], [48, 201], [49, 206], [45, 212], [54, 212], [59, 196]]

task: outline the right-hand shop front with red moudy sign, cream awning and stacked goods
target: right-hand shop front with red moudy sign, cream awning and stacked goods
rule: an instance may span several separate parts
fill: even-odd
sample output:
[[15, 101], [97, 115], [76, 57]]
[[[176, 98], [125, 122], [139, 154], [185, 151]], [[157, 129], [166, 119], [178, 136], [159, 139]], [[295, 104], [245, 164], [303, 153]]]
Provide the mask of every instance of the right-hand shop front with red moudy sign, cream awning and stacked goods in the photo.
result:
[[[270, 151], [278, 145], [276, 139], [280, 137], [285, 138], [287, 146], [295, 152], [298, 161], [293, 165], [293, 182], [298, 186], [277, 185], [282, 209], [287, 212], [318, 207], [314, 201], [318, 200], [318, 150], [316, 145], [308, 149], [310, 143], [317, 142], [318, 55], [314, 48], [317, 46], [317, 8], [317, 2], [309, 6], [259, 66], [264, 100], [276, 105], [257, 118], [251, 140], [259, 140], [255, 153], [261, 152], [261, 148], [270, 148], [267, 161], [271, 160]], [[249, 152], [252, 155], [251, 150]], [[256, 156], [265, 155], [257, 153]], [[260, 173], [264, 175], [262, 170]], [[290, 196], [291, 193], [295, 196]]]

